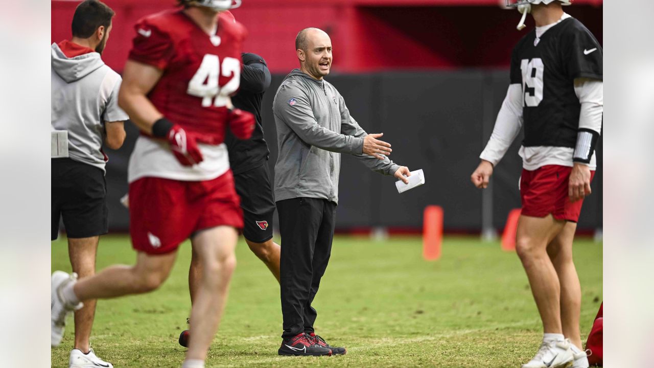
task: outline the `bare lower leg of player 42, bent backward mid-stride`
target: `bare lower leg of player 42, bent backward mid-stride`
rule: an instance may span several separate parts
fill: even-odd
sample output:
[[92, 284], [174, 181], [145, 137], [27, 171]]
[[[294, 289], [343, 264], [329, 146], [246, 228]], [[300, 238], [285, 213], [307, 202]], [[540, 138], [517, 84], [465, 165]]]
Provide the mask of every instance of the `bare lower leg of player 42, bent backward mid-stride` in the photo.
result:
[[108, 299], [153, 291], [168, 278], [177, 252], [149, 255], [139, 252], [136, 265], [107, 267], [90, 278], [79, 280], [73, 290], [77, 299]]

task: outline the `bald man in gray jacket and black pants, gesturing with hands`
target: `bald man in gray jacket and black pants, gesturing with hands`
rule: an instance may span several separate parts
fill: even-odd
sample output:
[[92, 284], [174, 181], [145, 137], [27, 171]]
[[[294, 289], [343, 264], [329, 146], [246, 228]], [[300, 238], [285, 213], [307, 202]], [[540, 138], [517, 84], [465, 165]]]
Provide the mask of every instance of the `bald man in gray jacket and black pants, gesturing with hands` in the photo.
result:
[[281, 231], [281, 304], [284, 332], [279, 355], [345, 354], [315, 334], [318, 291], [332, 249], [341, 153], [359, 158], [370, 170], [407, 183], [411, 175], [387, 156], [382, 134], [366, 134], [345, 101], [324, 81], [332, 65], [332, 42], [324, 31], [303, 29], [296, 38], [300, 69], [286, 76], [275, 94], [273, 113], [279, 157], [275, 199]]

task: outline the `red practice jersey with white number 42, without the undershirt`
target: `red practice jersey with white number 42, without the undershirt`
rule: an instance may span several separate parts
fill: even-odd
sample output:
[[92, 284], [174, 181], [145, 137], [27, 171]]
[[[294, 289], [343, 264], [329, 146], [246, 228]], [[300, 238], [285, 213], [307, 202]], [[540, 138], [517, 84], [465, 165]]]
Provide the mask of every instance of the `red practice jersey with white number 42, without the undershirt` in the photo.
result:
[[150, 101], [185, 130], [222, 142], [226, 102], [239, 88], [245, 28], [222, 12], [210, 36], [182, 10], [166, 10], [142, 18], [135, 30], [129, 59], [163, 70]]

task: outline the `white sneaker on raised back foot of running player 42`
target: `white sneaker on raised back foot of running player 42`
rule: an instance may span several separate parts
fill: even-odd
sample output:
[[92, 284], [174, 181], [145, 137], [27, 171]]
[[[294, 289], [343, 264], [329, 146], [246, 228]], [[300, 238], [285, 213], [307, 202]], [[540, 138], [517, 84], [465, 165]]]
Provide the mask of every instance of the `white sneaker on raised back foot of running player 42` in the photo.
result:
[[55, 271], [52, 274], [50, 284], [50, 346], [58, 346], [63, 339], [63, 330], [66, 327], [66, 317], [73, 310], [82, 308], [83, 304], [71, 305], [66, 303], [61, 295], [61, 290], [65, 285], [71, 282], [77, 282], [77, 274], [67, 274], [63, 271]]

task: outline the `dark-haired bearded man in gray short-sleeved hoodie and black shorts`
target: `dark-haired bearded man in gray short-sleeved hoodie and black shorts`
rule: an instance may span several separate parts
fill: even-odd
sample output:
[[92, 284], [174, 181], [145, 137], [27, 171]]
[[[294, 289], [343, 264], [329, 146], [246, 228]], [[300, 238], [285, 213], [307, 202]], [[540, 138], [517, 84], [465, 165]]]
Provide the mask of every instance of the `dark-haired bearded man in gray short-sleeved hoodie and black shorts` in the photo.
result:
[[[118, 107], [120, 75], [100, 58], [113, 16], [113, 10], [99, 1], [80, 3], [73, 16], [73, 38], [53, 43], [51, 48], [51, 239], [58, 237], [63, 217], [71, 266], [80, 278], [95, 273], [99, 235], [108, 230], [108, 158], [102, 146], [122, 146], [124, 120], [128, 119]], [[75, 312], [70, 367], [112, 367], [90, 348], [94, 314], [95, 301], [84, 303], [84, 308]], [[56, 330], [52, 329], [53, 339]]]

